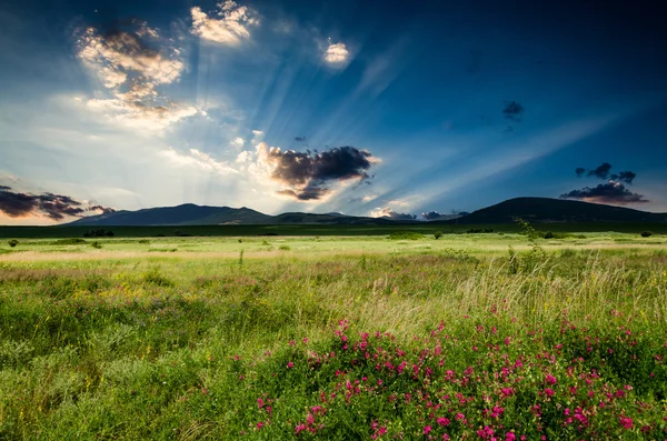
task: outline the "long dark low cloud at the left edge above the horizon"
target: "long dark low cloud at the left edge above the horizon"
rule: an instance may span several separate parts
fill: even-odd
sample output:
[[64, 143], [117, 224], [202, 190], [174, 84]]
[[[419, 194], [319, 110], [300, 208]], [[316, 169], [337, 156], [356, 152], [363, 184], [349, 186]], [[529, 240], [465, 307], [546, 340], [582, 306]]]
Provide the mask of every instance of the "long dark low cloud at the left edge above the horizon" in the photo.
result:
[[10, 218], [27, 218], [47, 216], [52, 220], [66, 217], [83, 217], [86, 213], [110, 213], [115, 210], [102, 206], [86, 206], [68, 196], [54, 193], [20, 193], [11, 191], [7, 186], [0, 186], [0, 212]]

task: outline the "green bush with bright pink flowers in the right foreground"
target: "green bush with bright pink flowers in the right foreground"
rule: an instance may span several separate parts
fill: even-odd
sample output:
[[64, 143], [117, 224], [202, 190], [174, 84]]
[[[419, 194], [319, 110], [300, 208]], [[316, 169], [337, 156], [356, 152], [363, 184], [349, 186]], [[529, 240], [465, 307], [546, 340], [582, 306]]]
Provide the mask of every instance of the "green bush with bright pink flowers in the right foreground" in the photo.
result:
[[271, 397], [273, 412], [236, 422], [280, 439], [664, 439], [667, 339], [630, 324], [564, 314], [554, 332], [489, 313], [405, 344], [344, 320], [328, 341], [252, 361], [242, 393]]

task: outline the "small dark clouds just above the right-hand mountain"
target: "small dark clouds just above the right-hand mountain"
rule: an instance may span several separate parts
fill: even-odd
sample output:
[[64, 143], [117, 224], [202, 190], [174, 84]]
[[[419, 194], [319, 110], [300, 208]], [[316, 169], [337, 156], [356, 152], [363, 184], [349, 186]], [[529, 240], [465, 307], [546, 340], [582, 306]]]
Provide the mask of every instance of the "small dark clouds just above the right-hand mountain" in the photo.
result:
[[644, 199], [643, 194], [634, 193], [628, 190], [625, 183], [631, 184], [637, 173], [633, 171], [621, 171], [611, 173], [611, 164], [603, 162], [595, 169], [585, 169], [578, 167], [575, 169], [578, 178], [588, 177], [607, 180], [606, 183], [600, 183], [597, 187], [584, 187], [579, 190], [573, 190], [568, 193], [560, 194], [560, 199], [576, 199], [586, 202], [610, 203], [615, 206], [626, 206], [628, 203], [649, 202]]

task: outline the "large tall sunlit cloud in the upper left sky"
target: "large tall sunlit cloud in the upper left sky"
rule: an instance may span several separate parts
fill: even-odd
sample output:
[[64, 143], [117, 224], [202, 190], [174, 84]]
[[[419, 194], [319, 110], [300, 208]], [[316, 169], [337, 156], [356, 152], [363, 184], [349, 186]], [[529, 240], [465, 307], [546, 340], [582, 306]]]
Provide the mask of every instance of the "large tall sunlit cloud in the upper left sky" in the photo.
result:
[[[180, 79], [180, 51], [170, 48], [145, 21], [117, 22], [106, 32], [87, 28], [77, 41], [77, 56], [100, 79], [104, 90], [86, 101], [89, 110], [140, 129], [161, 130], [197, 113], [192, 106], [168, 100], [158, 88]], [[158, 49], [162, 47], [161, 49]]]

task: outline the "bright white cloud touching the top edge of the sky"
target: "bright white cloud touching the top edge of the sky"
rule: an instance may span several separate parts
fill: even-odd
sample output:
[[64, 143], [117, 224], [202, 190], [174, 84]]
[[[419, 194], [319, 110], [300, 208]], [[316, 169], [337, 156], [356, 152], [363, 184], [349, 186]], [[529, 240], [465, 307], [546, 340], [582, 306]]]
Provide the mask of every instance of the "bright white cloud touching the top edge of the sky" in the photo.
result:
[[207, 14], [199, 7], [190, 9], [190, 13], [192, 33], [220, 44], [240, 44], [250, 38], [250, 28], [259, 24], [257, 11], [232, 0], [218, 3], [215, 16]]

